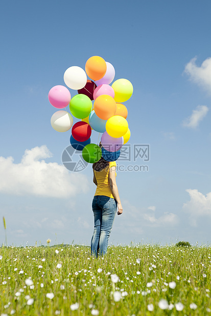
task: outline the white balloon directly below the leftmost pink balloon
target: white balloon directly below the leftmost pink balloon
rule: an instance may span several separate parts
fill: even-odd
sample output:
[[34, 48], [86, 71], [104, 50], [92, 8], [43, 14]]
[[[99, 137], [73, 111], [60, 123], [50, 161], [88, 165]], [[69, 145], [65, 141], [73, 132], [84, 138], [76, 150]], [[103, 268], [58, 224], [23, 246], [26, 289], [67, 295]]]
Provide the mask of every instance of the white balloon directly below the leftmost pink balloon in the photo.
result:
[[73, 118], [66, 111], [57, 111], [51, 117], [51, 126], [57, 131], [67, 131], [73, 126]]

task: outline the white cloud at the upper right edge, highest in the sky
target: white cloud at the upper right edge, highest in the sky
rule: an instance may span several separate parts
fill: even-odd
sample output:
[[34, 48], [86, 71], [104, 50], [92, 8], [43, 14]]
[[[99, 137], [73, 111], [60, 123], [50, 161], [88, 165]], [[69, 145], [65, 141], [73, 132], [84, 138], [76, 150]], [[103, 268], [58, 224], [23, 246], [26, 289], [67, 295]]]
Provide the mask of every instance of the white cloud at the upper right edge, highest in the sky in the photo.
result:
[[195, 57], [187, 63], [184, 72], [193, 82], [211, 93], [211, 58], [205, 59], [200, 67], [196, 65], [196, 60]]

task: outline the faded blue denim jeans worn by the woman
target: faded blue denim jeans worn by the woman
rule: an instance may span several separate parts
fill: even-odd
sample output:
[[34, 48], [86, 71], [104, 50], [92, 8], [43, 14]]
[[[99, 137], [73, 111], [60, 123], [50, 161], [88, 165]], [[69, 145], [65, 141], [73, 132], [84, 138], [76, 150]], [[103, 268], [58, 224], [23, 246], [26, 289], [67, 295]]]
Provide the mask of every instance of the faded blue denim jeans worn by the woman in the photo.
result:
[[116, 200], [105, 195], [93, 197], [92, 210], [94, 215], [94, 232], [91, 239], [91, 254], [105, 255], [108, 239], [116, 214]]

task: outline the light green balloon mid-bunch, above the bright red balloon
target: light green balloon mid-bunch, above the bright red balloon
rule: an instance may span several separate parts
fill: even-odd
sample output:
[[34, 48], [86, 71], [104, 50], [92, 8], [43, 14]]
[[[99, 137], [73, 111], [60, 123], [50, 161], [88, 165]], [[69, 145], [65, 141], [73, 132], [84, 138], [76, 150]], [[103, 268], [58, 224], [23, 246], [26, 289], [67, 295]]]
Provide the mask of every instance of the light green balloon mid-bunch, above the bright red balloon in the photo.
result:
[[69, 102], [69, 110], [77, 118], [87, 117], [92, 110], [92, 102], [85, 94], [77, 94]]

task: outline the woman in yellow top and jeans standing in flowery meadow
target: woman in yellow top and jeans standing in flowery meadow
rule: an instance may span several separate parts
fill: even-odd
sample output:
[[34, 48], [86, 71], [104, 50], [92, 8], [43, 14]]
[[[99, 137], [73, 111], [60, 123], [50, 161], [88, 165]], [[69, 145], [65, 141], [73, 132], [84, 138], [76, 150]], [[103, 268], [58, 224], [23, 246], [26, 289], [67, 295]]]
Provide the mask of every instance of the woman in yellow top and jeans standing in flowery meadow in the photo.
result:
[[116, 163], [101, 159], [93, 164], [93, 182], [97, 186], [92, 201], [95, 227], [91, 239], [91, 254], [105, 255], [108, 239], [113, 226], [116, 206], [118, 215], [122, 214], [122, 204], [116, 185]]

